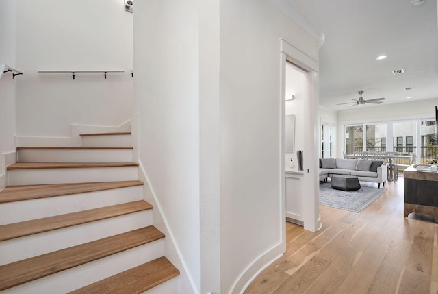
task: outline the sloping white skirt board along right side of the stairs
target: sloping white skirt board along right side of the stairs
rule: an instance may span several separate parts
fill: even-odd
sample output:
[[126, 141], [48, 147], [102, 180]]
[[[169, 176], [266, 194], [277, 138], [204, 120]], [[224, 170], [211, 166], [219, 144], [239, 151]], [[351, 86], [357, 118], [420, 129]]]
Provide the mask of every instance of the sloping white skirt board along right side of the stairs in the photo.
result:
[[166, 258], [172, 262], [177, 269], [179, 269], [179, 291], [178, 293], [188, 293], [195, 294], [198, 293], [196, 291], [196, 285], [188, 271], [188, 267], [185, 264], [184, 258], [181, 254], [181, 250], [176, 245], [175, 236], [171, 230], [169, 230], [168, 221], [166, 216], [162, 213], [162, 206], [159, 204], [159, 201], [156, 197], [155, 191], [153, 191], [153, 187], [150, 184], [149, 177], [147, 177], [146, 171], [141, 160], [138, 160], [139, 171], [138, 171], [138, 180], [144, 183], [143, 185], [143, 197], [144, 200], [152, 204], [153, 206], [153, 225], [160, 231], [164, 233], [166, 236]]

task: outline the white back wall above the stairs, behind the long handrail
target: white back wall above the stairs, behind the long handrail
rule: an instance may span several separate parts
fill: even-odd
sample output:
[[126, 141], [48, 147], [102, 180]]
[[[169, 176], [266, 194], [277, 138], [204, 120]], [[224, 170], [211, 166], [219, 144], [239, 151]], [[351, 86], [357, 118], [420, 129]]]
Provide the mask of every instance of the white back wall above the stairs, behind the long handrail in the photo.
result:
[[[17, 0], [17, 136], [70, 136], [72, 124], [117, 126], [133, 112], [132, 14], [120, 0]], [[38, 74], [120, 69], [125, 73]]]

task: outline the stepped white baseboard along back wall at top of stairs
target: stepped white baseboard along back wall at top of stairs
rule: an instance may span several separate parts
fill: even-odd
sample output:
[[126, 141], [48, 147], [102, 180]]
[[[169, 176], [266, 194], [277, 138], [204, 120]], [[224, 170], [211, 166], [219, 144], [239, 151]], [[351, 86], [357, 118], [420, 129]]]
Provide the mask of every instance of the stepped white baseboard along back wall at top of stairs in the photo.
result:
[[82, 145], [80, 134], [112, 132], [131, 132], [131, 119], [117, 127], [103, 125], [71, 125], [71, 132], [68, 137], [16, 136], [15, 143], [16, 146], [19, 147], [73, 147]]

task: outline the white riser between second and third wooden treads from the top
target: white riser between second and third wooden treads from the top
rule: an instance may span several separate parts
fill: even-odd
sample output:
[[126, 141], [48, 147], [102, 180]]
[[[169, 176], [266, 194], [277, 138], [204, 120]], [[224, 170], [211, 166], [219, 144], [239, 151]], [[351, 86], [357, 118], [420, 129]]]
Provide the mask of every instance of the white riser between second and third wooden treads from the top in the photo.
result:
[[132, 162], [132, 149], [21, 149], [18, 162]]

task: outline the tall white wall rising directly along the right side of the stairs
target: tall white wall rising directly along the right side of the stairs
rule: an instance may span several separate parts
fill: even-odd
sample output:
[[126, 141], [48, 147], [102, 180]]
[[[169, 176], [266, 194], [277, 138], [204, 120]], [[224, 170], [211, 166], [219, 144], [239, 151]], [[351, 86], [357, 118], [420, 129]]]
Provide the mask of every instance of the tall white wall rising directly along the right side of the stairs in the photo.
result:
[[187, 278], [200, 291], [198, 53], [198, 1], [135, 3], [139, 161], [168, 224], [166, 238], [182, 256], [184, 268], [178, 256], [166, 252], [182, 272], [179, 293], [192, 292]]

